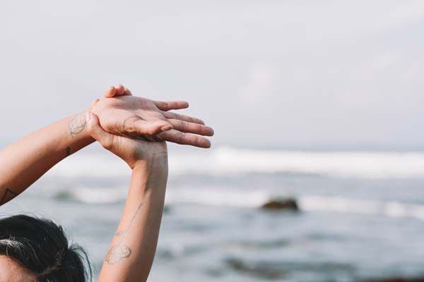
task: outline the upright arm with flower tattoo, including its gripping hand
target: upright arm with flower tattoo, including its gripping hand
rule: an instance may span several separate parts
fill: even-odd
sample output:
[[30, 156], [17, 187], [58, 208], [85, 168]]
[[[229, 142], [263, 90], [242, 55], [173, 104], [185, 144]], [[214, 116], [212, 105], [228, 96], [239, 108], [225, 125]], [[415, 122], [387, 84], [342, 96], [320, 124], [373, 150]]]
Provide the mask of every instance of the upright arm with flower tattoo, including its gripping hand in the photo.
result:
[[106, 133], [93, 114], [88, 118], [88, 132], [132, 170], [124, 212], [98, 281], [146, 281], [155, 256], [165, 201], [166, 144]]

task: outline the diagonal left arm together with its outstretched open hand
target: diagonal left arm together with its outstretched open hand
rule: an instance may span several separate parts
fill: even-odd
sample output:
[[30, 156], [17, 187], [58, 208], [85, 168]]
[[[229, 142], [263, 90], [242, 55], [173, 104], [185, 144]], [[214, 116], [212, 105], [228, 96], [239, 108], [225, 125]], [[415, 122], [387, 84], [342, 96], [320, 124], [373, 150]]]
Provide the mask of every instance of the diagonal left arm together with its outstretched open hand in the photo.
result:
[[[119, 85], [107, 90], [104, 99], [96, 99], [91, 111], [98, 116], [102, 127], [114, 135], [210, 147], [206, 138], [187, 132], [213, 135], [212, 128], [184, 121], [200, 122], [197, 118], [165, 118], [164, 115], [175, 113], [160, 110], [187, 106], [187, 102], [154, 102], [134, 97]], [[0, 206], [23, 192], [59, 161], [95, 141], [86, 130], [86, 113], [83, 111], [64, 118], [1, 149]], [[177, 123], [184, 125], [179, 127]]]

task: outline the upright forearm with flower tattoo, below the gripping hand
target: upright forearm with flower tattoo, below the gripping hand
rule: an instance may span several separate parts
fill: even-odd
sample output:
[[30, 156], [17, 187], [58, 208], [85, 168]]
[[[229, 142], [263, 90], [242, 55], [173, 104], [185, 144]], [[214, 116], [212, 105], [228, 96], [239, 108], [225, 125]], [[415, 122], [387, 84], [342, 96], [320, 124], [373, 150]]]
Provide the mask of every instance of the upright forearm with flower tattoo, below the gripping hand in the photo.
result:
[[167, 182], [167, 159], [133, 169], [131, 187], [99, 281], [146, 281], [153, 264]]

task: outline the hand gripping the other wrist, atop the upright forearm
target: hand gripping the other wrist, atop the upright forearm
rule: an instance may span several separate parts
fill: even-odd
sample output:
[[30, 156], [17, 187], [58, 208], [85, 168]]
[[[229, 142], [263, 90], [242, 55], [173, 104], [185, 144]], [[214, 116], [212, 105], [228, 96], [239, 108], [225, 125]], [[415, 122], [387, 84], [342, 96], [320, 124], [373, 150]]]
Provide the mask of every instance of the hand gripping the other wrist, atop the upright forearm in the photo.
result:
[[[88, 133], [110, 152], [123, 159], [131, 169], [138, 165], [161, 164], [167, 161], [165, 142], [136, 140], [107, 133], [100, 126], [99, 118], [93, 113], [86, 116]], [[158, 161], [163, 160], [163, 161]]]

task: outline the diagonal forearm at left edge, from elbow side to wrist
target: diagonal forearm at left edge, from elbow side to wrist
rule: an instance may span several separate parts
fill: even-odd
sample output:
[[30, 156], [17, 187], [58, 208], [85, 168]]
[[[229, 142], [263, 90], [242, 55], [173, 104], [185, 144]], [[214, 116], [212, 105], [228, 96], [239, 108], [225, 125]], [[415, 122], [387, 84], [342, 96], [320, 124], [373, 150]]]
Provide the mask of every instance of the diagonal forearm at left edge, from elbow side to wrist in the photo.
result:
[[19, 195], [59, 161], [94, 142], [85, 112], [57, 121], [0, 151], [0, 205]]

